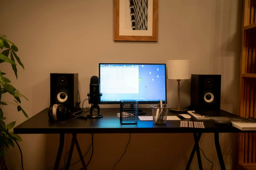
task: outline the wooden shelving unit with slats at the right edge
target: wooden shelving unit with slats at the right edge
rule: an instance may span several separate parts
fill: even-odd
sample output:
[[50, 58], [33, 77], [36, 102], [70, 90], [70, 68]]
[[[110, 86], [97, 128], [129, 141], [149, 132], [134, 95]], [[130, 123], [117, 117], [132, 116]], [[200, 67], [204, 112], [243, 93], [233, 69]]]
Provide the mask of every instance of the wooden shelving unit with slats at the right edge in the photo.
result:
[[[239, 116], [256, 118], [256, 0], [244, 0]], [[256, 133], [238, 135], [237, 170], [256, 170]]]

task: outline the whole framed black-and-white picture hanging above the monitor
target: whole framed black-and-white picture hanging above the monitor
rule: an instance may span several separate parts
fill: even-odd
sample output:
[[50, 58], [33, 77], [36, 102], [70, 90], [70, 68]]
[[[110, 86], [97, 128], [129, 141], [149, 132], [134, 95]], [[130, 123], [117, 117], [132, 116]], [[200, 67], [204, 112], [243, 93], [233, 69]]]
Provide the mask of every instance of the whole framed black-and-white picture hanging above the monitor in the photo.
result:
[[114, 0], [114, 41], [157, 41], [158, 0]]

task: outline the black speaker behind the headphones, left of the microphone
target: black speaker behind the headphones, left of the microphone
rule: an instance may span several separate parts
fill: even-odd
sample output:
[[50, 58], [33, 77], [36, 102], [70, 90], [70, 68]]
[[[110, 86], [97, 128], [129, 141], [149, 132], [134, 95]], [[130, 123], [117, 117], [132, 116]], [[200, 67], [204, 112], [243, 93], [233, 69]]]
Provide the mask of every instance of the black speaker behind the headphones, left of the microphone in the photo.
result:
[[77, 107], [78, 73], [51, 73], [51, 105], [64, 104], [73, 111]]

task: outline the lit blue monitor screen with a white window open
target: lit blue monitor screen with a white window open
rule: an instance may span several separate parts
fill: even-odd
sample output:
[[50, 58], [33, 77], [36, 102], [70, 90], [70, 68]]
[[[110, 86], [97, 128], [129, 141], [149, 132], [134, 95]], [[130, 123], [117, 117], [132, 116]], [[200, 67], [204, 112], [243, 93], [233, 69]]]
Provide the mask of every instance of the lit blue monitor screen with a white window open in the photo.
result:
[[166, 64], [99, 64], [101, 104], [166, 101]]

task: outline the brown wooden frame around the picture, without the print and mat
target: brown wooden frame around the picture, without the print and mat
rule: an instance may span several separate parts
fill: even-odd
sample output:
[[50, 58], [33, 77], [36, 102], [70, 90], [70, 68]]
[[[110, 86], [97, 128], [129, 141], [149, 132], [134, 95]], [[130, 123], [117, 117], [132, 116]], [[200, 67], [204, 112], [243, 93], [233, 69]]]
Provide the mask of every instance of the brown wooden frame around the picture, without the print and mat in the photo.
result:
[[119, 35], [119, 6], [119, 0], [114, 0], [114, 41], [156, 42], [158, 40], [158, 0], [153, 0], [152, 36]]

